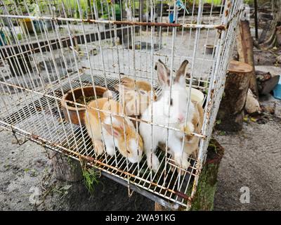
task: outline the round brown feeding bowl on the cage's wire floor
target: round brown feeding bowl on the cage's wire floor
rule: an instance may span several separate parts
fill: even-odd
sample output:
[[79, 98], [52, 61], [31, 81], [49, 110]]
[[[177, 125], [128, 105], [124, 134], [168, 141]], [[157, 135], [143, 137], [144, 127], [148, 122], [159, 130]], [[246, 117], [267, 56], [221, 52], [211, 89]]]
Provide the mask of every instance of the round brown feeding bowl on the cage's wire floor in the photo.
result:
[[[93, 91], [93, 86], [84, 86], [83, 91], [84, 91], [84, 95], [86, 97], [95, 95], [94, 91]], [[105, 91], [107, 91], [107, 89], [105, 87], [96, 86], [97, 96], [103, 96]], [[79, 87], [77, 89], [73, 89], [73, 93], [74, 93], [75, 99], [79, 98], [80, 96], [83, 96], [81, 87]], [[65, 115], [65, 120], [67, 120], [69, 122], [72, 122], [73, 124], [79, 124], [79, 119], [78, 119], [78, 116], [77, 116], [76, 108], [68, 105], [69, 103], [67, 103], [65, 100], [73, 101], [72, 91], [68, 91], [67, 94], [65, 94], [63, 96], [60, 103], [61, 103], [62, 108], [63, 108], [63, 115]], [[67, 115], [67, 109], [68, 109], [68, 112], [70, 113], [70, 118]], [[77, 111], [78, 111], [78, 115], [79, 115], [81, 124], [85, 124], [84, 114], [85, 114], [86, 108], [85, 107], [78, 107], [78, 105], [77, 105]]]

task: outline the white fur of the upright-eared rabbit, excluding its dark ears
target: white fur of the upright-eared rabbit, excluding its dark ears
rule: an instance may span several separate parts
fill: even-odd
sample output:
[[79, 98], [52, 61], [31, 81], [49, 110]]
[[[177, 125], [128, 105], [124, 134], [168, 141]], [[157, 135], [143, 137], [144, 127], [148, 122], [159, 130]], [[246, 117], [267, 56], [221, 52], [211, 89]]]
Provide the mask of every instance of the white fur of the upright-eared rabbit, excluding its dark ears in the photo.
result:
[[[148, 106], [141, 119], [148, 122], [153, 122], [155, 124], [178, 128], [181, 126], [181, 124], [179, 124], [178, 122], [178, 115], [182, 113], [185, 117], [187, 113], [188, 91], [185, 87], [185, 79], [179, 79], [179, 82], [171, 85], [171, 98], [173, 99], [173, 105], [170, 107], [170, 113], [168, 105], [170, 99], [169, 86], [164, 85], [162, 86], [162, 89], [164, 93], [162, 94], [161, 98]], [[153, 110], [152, 120], [151, 110]], [[195, 105], [190, 102], [187, 125], [192, 124], [191, 121], [194, 112]], [[152, 127], [150, 124], [141, 122], [139, 129], [140, 134], [143, 137], [143, 147], [147, 156], [148, 167], [152, 167], [152, 169], [156, 172], [159, 167], [159, 160], [155, 155], [155, 150], [159, 142], [166, 142], [167, 129], [155, 125], [153, 125]], [[189, 129], [194, 130], [193, 125]], [[183, 167], [183, 169], [188, 169], [190, 163], [188, 162], [188, 155], [182, 150], [182, 137], [182, 132], [169, 129], [168, 147], [169, 152], [171, 153], [171, 155], [173, 155], [176, 164], [180, 167]]]

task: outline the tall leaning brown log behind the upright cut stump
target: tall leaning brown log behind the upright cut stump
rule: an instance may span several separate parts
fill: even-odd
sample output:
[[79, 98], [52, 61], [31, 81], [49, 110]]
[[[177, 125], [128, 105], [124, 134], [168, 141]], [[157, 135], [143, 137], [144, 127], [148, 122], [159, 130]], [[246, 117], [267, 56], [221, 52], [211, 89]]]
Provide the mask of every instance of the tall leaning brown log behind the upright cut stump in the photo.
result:
[[255, 96], [259, 96], [258, 86], [256, 84], [256, 75], [254, 70], [254, 51], [253, 51], [253, 38], [251, 37], [249, 21], [241, 20], [239, 32], [237, 34], [237, 51], [239, 60], [243, 63], [248, 63], [253, 67], [250, 73], [249, 88]]

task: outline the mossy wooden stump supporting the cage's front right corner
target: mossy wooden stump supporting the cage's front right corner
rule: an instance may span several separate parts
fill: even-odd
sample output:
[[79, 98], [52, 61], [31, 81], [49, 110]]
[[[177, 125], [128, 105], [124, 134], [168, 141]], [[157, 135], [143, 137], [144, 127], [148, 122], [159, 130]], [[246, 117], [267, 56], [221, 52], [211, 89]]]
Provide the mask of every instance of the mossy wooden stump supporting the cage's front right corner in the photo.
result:
[[[218, 167], [223, 158], [224, 149], [216, 141], [211, 139], [208, 147], [207, 160], [202, 168], [197, 184], [197, 191], [192, 199], [190, 210], [210, 211], [214, 209], [214, 195], [218, 183]], [[169, 210], [159, 203], [155, 203], [155, 211]]]

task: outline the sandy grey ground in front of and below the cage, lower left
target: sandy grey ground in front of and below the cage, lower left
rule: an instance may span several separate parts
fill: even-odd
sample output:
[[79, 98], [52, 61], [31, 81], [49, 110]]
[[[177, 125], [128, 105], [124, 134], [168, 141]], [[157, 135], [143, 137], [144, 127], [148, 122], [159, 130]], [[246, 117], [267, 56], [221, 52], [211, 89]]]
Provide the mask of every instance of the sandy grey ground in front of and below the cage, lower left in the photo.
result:
[[151, 200], [136, 193], [128, 198], [124, 186], [105, 177], [93, 195], [83, 181], [57, 181], [43, 147], [19, 146], [9, 131], [1, 131], [0, 140], [0, 210], [153, 210]]

